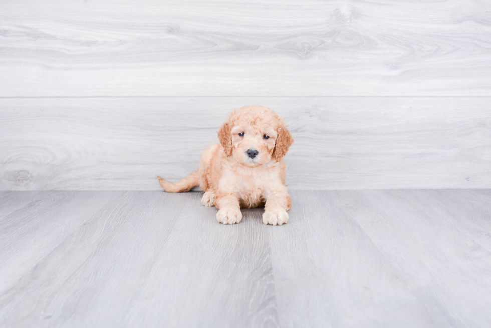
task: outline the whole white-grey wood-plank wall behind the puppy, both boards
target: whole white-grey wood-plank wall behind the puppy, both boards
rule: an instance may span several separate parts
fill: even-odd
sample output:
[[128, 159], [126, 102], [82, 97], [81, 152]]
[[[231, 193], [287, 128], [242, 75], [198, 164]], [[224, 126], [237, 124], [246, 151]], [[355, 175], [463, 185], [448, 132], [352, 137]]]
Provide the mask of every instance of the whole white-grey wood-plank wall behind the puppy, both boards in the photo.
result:
[[158, 190], [268, 106], [292, 189], [491, 188], [488, 1], [0, 3], [0, 189]]

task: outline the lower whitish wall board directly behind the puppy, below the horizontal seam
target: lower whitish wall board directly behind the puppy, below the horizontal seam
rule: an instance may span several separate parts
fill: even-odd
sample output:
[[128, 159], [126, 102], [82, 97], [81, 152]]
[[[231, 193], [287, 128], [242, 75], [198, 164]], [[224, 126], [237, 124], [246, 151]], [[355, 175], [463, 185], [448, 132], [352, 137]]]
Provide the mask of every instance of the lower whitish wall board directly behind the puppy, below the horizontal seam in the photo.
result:
[[0, 98], [0, 190], [160, 190], [227, 113], [262, 104], [295, 139], [290, 189], [491, 187], [491, 98]]

